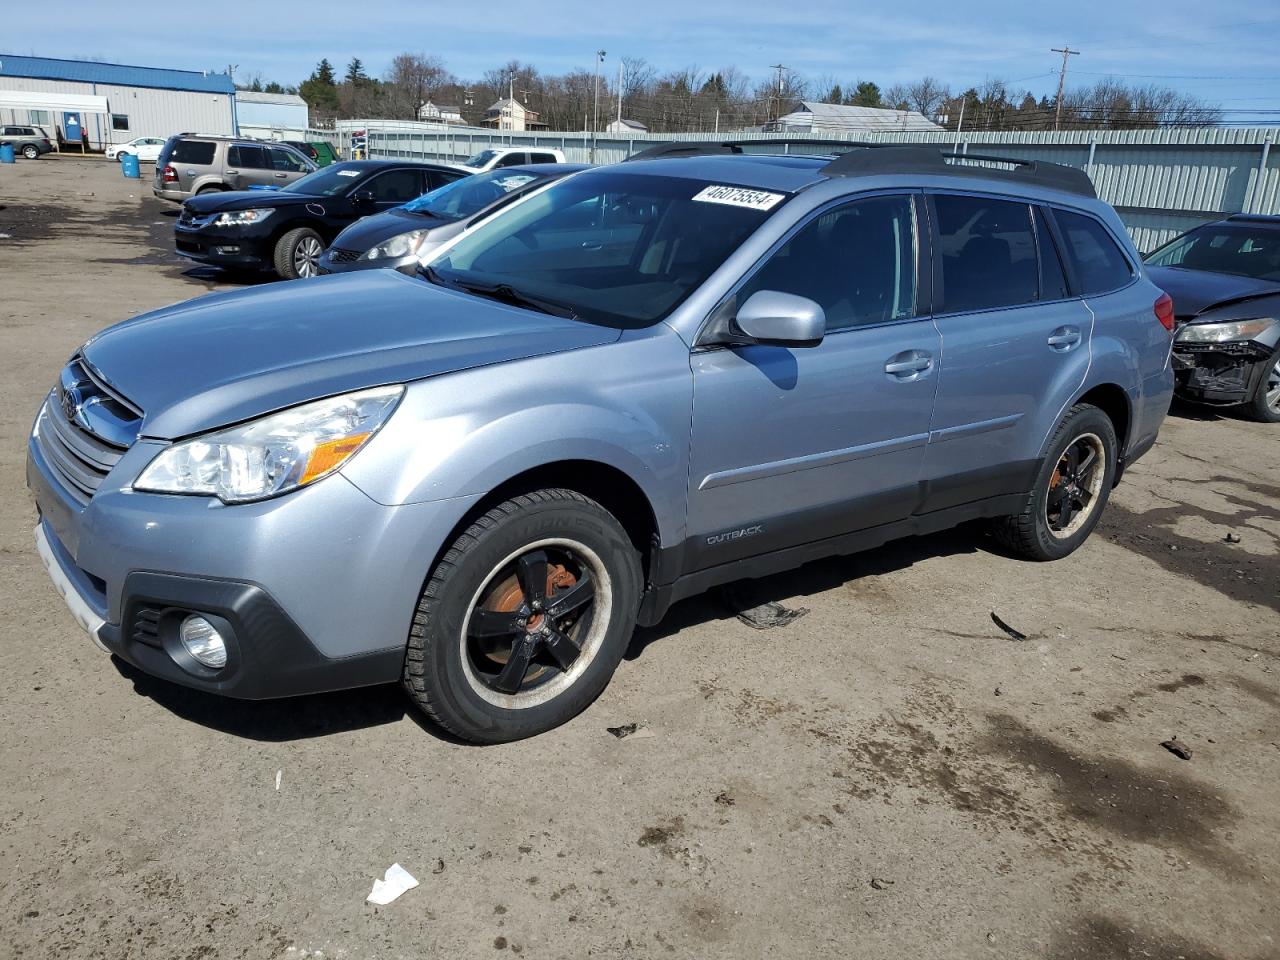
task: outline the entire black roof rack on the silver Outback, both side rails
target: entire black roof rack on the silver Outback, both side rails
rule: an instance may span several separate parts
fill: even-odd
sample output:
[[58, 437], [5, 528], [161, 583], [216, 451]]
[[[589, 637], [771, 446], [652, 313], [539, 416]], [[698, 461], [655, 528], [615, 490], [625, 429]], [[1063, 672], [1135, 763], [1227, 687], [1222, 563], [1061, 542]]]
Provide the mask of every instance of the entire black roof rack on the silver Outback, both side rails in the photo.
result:
[[[893, 173], [932, 173], [946, 177], [975, 177], [983, 179], [1006, 179], [1018, 183], [1030, 183], [1041, 187], [1096, 197], [1093, 182], [1084, 170], [1062, 164], [1050, 164], [1043, 160], [1020, 160], [1012, 156], [992, 156], [987, 154], [956, 154], [929, 145], [869, 143], [856, 140], [818, 140], [780, 137], [774, 140], [726, 140], [726, 141], [671, 141], [655, 143], [648, 150], [627, 157], [627, 160], [659, 160], [677, 156], [714, 156], [745, 154], [753, 146], [820, 146], [824, 154], [835, 154], [836, 159], [822, 168], [827, 177], [872, 177]], [[805, 156], [797, 154], [796, 156]], [[954, 163], [948, 163], [954, 161]], [[989, 166], [1005, 164], [1007, 168]]]

